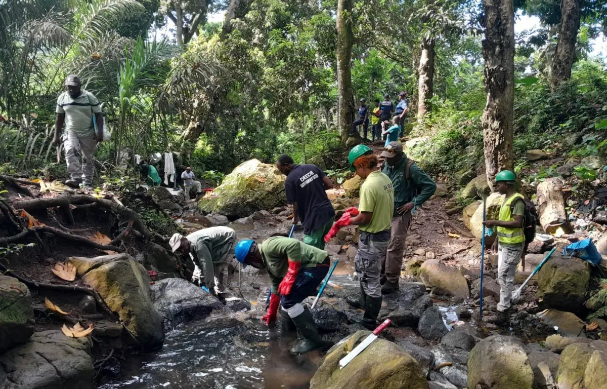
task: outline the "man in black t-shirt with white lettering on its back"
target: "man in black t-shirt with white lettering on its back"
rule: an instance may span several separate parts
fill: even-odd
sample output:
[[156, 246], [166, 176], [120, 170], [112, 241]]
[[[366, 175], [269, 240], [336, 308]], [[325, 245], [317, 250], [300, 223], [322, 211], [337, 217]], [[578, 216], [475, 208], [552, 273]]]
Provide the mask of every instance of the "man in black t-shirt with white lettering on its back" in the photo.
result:
[[301, 220], [304, 226], [304, 243], [324, 250], [324, 236], [335, 219], [325, 190], [333, 188], [333, 182], [316, 165], [296, 165], [287, 154], [278, 157], [276, 168], [287, 176], [287, 202], [293, 204], [293, 224]]

